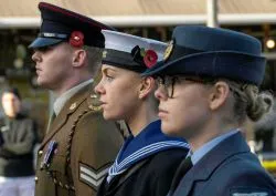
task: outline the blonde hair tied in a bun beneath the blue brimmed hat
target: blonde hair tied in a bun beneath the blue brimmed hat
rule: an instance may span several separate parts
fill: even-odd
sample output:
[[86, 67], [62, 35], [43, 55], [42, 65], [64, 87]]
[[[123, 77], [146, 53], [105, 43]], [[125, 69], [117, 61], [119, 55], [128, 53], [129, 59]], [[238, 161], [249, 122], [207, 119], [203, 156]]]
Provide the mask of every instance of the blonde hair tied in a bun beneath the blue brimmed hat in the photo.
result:
[[234, 116], [243, 123], [246, 116], [256, 122], [268, 113], [273, 105], [273, 95], [269, 92], [258, 92], [253, 84], [226, 81], [234, 95]]

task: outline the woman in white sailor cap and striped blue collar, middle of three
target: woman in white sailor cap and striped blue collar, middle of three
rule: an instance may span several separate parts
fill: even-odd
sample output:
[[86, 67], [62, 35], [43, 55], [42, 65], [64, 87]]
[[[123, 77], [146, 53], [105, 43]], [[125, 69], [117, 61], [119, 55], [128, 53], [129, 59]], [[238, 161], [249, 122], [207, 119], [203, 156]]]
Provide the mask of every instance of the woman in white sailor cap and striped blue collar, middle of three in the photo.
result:
[[164, 196], [188, 153], [184, 140], [161, 133], [155, 80], [140, 73], [160, 60], [166, 44], [102, 30], [105, 35], [103, 78], [95, 91], [106, 120], [125, 120], [131, 132], [98, 196]]

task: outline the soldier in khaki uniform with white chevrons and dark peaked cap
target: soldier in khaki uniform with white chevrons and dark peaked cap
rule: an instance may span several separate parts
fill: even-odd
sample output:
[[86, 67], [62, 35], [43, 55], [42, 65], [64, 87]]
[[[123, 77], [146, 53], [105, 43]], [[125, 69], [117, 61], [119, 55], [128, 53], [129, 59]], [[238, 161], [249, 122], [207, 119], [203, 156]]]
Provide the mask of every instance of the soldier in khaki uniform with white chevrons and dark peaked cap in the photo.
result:
[[38, 153], [35, 195], [93, 196], [123, 143], [93, 92], [104, 48], [100, 30], [112, 28], [53, 4], [41, 2], [39, 9], [32, 59], [38, 83], [57, 99]]

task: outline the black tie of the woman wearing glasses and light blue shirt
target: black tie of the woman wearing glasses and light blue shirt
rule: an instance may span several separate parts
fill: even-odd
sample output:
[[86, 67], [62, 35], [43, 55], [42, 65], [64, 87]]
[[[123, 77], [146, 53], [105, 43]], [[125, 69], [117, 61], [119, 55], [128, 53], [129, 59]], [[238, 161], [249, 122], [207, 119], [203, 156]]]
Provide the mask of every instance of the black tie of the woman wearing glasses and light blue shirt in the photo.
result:
[[172, 195], [174, 193], [174, 190], [178, 187], [178, 184], [180, 183], [180, 180], [182, 179], [182, 177], [185, 175], [185, 173], [192, 167], [192, 161], [191, 161], [191, 156], [188, 156], [184, 161], [181, 162], [181, 164], [179, 165], [173, 178], [172, 178], [172, 183], [171, 183], [171, 187], [169, 190], [168, 196]]

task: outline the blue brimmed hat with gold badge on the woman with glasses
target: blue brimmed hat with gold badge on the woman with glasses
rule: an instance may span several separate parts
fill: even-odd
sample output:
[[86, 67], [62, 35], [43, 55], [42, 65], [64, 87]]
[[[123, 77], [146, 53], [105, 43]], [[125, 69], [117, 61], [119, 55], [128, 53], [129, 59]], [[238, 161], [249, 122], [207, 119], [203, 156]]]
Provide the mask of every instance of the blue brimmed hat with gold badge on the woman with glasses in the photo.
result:
[[163, 60], [142, 75], [224, 78], [259, 85], [265, 74], [261, 42], [247, 34], [203, 25], [177, 27]]

